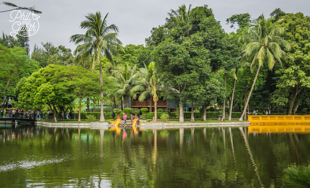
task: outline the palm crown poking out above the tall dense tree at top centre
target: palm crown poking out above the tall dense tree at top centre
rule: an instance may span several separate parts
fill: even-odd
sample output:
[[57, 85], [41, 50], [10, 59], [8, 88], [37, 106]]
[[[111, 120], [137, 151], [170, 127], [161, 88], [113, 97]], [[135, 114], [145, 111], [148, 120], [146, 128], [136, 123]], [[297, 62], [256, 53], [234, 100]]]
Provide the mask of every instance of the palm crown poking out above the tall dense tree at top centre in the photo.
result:
[[177, 18], [177, 21], [186, 24], [186, 31], [185, 31], [185, 36], [188, 37], [189, 33], [192, 29], [192, 26], [190, 24], [190, 20], [189, 20], [189, 15], [190, 15], [190, 11], [191, 11], [191, 7], [192, 4], [189, 4], [189, 8], [187, 9], [185, 4], [182, 4], [181, 6], [178, 7], [177, 10], [173, 10], [171, 9], [170, 13], [168, 13], [168, 16]]

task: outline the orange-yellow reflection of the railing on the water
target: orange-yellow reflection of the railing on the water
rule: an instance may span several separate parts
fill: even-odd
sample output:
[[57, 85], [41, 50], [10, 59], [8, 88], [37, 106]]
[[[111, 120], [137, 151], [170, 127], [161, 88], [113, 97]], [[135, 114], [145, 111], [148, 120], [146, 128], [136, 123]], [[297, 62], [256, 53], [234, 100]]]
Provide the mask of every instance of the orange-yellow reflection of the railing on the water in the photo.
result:
[[250, 125], [249, 133], [310, 133], [310, 125]]

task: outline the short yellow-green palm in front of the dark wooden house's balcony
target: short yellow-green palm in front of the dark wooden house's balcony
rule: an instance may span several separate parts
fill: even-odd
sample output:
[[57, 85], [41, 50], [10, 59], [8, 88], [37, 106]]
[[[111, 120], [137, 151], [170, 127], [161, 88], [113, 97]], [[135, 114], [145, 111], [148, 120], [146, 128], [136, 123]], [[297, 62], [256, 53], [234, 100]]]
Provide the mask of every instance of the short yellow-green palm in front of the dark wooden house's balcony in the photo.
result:
[[[155, 68], [155, 62], [151, 62], [148, 66], [144, 64], [143, 68], [140, 68], [140, 79], [139, 82], [144, 86], [144, 90], [138, 100], [144, 101], [147, 97], [152, 98], [153, 96], [153, 90], [151, 86], [152, 82], [152, 76], [155, 74], [156, 68]], [[152, 102], [150, 101], [150, 112], [152, 112]]]

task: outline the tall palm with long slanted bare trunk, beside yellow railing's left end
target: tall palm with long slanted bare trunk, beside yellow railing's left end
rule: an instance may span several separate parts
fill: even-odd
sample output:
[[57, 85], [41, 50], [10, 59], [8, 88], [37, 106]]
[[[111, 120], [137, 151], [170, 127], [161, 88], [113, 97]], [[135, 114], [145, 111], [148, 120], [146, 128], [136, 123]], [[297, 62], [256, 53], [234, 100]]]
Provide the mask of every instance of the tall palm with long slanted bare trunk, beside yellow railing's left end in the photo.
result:
[[267, 63], [269, 70], [272, 70], [276, 62], [282, 65], [281, 58], [287, 58], [288, 56], [287, 53], [281, 49], [281, 47], [287, 50], [290, 49], [290, 44], [281, 38], [281, 35], [284, 33], [284, 28], [279, 27], [279, 25], [282, 21], [283, 19], [279, 19], [275, 22], [273, 18], [265, 19], [262, 14], [261, 18], [254, 21], [254, 26], [247, 29], [242, 36], [244, 44], [241, 49], [241, 60], [252, 61], [251, 72], [255, 70], [257, 64], [258, 68], [239, 121], [243, 120], [261, 66]]

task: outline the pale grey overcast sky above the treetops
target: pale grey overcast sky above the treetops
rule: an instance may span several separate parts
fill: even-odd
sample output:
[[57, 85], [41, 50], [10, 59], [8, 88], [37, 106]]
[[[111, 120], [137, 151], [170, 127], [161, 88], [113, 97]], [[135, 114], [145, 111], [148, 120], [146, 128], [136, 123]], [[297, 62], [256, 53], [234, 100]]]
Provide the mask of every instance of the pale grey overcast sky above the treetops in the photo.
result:
[[[30, 47], [41, 42], [53, 42], [55, 46], [65, 45], [75, 49], [75, 45], [69, 43], [72, 34], [84, 34], [79, 28], [80, 22], [85, 20], [87, 13], [101, 11], [103, 15], [109, 13], [108, 24], [116, 24], [120, 33], [118, 38], [127, 44], [145, 44], [145, 38], [150, 36], [150, 30], [165, 23], [165, 18], [170, 9], [177, 9], [181, 4], [187, 7], [193, 4], [203, 6], [207, 4], [213, 10], [215, 19], [219, 20], [226, 32], [234, 31], [225, 20], [231, 15], [250, 13], [252, 18], [257, 18], [261, 13], [268, 15], [276, 8], [281, 8], [286, 13], [302, 12], [310, 15], [310, 0], [217, 0], [217, 1], [188, 1], [188, 0], [7, 0], [18, 6], [36, 6], [42, 11], [39, 18], [39, 30], [29, 37]], [[0, 11], [10, 7], [0, 5]], [[12, 31], [12, 22], [9, 22], [10, 13], [0, 13], [0, 30], [9, 34]]]

